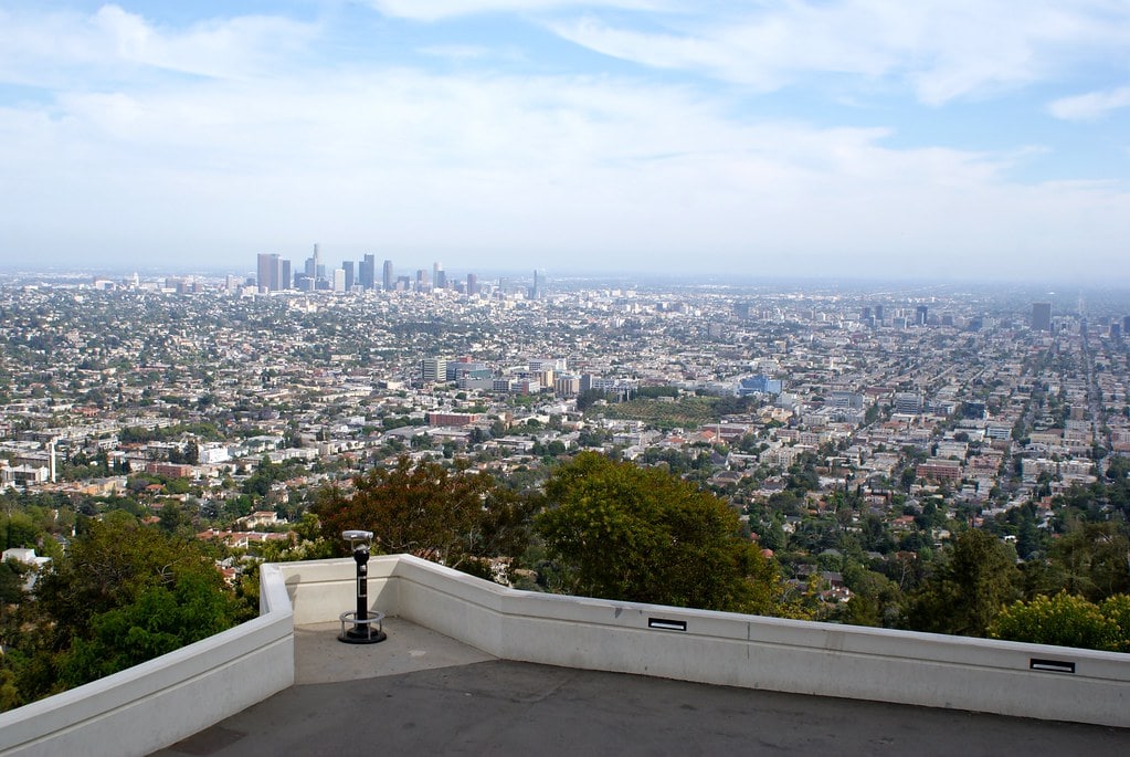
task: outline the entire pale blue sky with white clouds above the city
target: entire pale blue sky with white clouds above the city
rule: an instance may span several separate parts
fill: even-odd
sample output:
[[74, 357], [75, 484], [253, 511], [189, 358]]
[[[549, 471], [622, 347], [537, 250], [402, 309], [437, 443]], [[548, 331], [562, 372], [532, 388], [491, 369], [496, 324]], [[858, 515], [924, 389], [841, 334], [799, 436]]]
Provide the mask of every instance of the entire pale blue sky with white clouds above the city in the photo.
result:
[[0, 1], [0, 266], [1130, 284], [1127, 0]]

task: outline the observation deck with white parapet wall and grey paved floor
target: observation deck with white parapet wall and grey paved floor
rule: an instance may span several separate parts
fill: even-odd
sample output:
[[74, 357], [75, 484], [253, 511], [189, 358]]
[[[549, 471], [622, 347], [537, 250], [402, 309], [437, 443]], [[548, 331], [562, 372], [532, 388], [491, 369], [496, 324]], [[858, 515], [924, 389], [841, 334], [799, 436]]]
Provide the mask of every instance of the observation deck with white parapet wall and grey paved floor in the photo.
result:
[[0, 714], [0, 755], [1130, 752], [1130, 655], [264, 565], [259, 618]]

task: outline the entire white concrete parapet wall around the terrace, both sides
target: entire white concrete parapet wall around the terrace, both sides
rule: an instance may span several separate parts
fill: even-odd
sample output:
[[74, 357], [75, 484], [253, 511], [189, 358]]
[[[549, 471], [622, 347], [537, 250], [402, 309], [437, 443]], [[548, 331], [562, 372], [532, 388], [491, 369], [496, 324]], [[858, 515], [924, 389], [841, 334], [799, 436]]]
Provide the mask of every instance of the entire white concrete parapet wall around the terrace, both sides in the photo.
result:
[[[353, 559], [264, 565], [262, 615], [0, 714], [0, 756], [145, 755], [294, 684], [294, 625], [337, 620]], [[370, 604], [498, 658], [709, 684], [1130, 726], [1130, 654], [514, 591], [409, 556]], [[686, 630], [649, 627], [649, 619]], [[1070, 662], [1075, 673], [1029, 669]]]

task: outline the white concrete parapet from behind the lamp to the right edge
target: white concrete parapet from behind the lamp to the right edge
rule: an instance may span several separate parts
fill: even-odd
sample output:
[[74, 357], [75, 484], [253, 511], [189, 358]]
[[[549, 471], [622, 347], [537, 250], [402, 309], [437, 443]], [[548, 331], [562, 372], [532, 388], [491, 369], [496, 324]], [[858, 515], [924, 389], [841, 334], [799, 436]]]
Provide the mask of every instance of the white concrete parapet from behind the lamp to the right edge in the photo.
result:
[[[351, 607], [351, 563], [304, 565], [280, 566], [292, 586], [319, 571], [316, 592], [292, 589], [296, 617], [324, 621]], [[370, 565], [374, 609], [504, 659], [1130, 726], [1127, 654], [520, 592], [408, 556]], [[345, 574], [336, 589], [332, 569]], [[321, 606], [332, 612], [318, 617]], [[649, 618], [686, 630], [649, 628]], [[1033, 659], [1076, 672], [1032, 670]]]

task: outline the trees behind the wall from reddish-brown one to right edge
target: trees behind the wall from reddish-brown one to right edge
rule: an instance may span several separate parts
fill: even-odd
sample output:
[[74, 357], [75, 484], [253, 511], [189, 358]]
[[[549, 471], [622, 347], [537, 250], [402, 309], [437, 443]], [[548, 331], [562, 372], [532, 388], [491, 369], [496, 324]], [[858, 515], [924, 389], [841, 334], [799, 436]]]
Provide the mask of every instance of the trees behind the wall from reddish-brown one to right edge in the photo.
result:
[[[852, 497], [843, 499], [840, 510], [850, 514]], [[1114, 641], [1102, 649], [1130, 642], [1130, 623], [1118, 611], [1130, 592], [1128, 545], [1113, 523], [1079, 524], [1049, 557], [1023, 563], [1023, 569], [1011, 545], [967, 529], [941, 550], [924, 549], [922, 559], [888, 560], [884, 573], [857, 565], [846, 575], [853, 598], [840, 607], [822, 606], [815, 583], [790, 588], [723, 499], [661, 469], [592, 452], [555, 468], [536, 495], [518, 495], [485, 473], [401, 460], [358, 479], [351, 494], [332, 490], [316, 512], [327, 538], [365, 528], [380, 534], [385, 551], [414, 551], [480, 575], [487, 575], [485, 558], [512, 557], [511, 567], [531, 568], [538, 586], [551, 591], [1092, 645], [1089, 636], [1055, 630], [1055, 623], [1009, 620], [1053, 608], [1062, 614], [1062, 602], [1046, 602], [1063, 592], [1080, 612], [1106, 618], [1104, 638]], [[867, 533], [852, 536], [858, 541]], [[511, 573], [521, 585], [520, 576]]]

